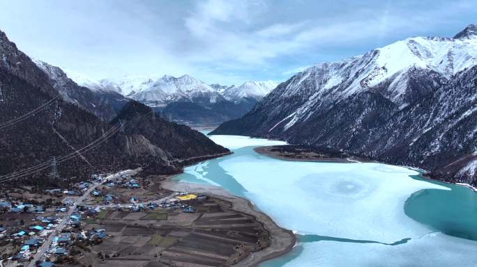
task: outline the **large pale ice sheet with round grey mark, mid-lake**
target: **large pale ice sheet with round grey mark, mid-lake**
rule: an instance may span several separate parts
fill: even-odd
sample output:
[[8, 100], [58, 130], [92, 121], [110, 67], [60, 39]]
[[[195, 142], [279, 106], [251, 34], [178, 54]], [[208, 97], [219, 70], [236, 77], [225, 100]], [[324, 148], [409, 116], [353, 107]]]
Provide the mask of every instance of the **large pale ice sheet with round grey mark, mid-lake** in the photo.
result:
[[221, 161], [220, 167], [239, 181], [259, 209], [287, 229], [382, 243], [430, 232], [404, 214], [404, 202], [423, 188], [446, 189], [411, 179], [414, 170], [379, 163], [239, 156]]

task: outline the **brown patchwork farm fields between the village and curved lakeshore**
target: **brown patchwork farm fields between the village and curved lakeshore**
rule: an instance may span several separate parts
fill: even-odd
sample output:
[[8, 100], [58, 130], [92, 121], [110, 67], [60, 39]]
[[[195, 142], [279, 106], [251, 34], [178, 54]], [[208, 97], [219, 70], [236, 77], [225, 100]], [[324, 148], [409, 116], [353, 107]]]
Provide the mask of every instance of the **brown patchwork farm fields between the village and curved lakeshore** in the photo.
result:
[[[185, 202], [197, 213], [180, 210], [110, 211], [86, 228], [103, 228], [111, 236], [93, 246], [86, 266], [231, 266], [269, 243], [255, 218], [232, 211], [217, 198]], [[103, 262], [98, 252], [108, 255]], [[88, 256], [88, 255], [86, 255]]]

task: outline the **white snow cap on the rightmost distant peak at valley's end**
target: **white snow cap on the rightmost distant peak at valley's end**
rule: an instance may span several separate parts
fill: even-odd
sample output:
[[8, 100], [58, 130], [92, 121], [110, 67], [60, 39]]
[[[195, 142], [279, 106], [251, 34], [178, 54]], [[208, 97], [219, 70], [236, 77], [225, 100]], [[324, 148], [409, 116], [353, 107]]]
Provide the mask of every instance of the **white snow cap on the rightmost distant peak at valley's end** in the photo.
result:
[[222, 91], [229, 101], [239, 101], [243, 98], [262, 99], [277, 86], [273, 81], [246, 81], [241, 86], [230, 86]]

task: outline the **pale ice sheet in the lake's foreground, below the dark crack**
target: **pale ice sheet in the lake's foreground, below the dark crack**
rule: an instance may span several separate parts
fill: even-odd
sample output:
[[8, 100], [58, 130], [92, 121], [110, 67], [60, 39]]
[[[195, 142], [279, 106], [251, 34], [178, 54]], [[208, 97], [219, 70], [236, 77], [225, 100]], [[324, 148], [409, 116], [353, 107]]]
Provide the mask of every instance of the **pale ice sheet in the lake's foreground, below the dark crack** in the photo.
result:
[[[393, 231], [393, 229], [389, 229]], [[376, 243], [346, 243], [319, 241], [300, 244], [303, 250], [293, 259], [278, 259], [264, 267], [315, 267], [315, 266], [420, 266], [448, 267], [475, 265], [473, 255], [476, 242], [446, 236], [428, 234], [412, 239], [403, 245]]]

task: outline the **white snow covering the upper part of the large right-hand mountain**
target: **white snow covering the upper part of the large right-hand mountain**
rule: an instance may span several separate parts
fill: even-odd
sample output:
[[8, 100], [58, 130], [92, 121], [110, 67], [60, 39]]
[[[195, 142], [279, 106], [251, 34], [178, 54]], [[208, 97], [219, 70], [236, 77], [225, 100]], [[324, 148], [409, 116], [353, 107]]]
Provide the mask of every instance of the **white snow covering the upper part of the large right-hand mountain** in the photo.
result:
[[309, 67], [274, 92], [277, 97], [303, 99], [289, 111], [294, 115], [286, 128], [310, 115], [311, 107], [337, 102], [370, 89], [379, 90], [404, 108], [416, 94], [425, 95], [432, 90], [432, 85], [423, 91], [414, 90], [416, 75], [425, 73], [437, 80], [448, 79], [477, 65], [477, 35], [470, 32], [460, 38], [407, 38], [362, 56]]

